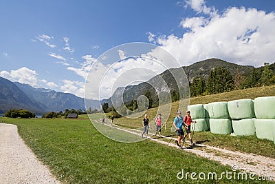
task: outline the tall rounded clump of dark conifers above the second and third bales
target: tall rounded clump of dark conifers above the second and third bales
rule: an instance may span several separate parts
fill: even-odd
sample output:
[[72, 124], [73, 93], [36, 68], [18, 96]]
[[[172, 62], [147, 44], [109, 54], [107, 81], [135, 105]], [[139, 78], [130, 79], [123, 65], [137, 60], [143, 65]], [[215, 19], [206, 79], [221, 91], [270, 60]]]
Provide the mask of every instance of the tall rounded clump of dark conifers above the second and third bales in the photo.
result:
[[224, 67], [214, 68], [210, 71], [207, 89], [210, 94], [229, 92], [233, 90], [233, 77]]

